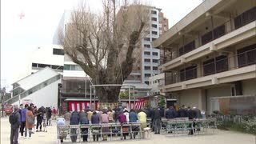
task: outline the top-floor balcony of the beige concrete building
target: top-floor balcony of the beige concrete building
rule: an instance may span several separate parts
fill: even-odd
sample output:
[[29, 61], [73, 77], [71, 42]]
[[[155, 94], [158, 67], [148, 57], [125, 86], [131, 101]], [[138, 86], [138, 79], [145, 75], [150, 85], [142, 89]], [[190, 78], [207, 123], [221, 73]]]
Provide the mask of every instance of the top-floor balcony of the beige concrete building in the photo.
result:
[[160, 70], [170, 70], [191, 62], [214, 51], [223, 50], [227, 46], [255, 36], [256, 6], [227, 22], [214, 27], [206, 34], [184, 44], [182, 47], [172, 46], [170, 50], [163, 48], [160, 58]]

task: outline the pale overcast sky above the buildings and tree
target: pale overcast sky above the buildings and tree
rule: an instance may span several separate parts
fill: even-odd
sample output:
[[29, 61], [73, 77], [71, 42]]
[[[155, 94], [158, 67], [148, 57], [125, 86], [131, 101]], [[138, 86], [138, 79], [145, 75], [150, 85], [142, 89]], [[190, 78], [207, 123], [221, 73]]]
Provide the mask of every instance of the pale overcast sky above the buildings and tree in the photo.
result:
[[[102, 9], [102, 0], [87, 0], [91, 10]], [[169, 26], [194, 10], [202, 0], [142, 0], [162, 9]], [[1, 0], [1, 83], [9, 86], [26, 76], [29, 54], [37, 46], [52, 44], [64, 10], [76, 0]], [[25, 16], [20, 19], [19, 14]]]

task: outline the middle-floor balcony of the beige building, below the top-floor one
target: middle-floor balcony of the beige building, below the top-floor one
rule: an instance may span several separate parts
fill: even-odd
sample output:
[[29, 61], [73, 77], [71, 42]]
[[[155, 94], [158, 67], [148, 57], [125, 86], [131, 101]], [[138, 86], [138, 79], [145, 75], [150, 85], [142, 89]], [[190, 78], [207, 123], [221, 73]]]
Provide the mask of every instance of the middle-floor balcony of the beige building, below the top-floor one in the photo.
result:
[[250, 78], [256, 78], [256, 47], [234, 57], [218, 57], [214, 62], [204, 62], [202, 66], [166, 73], [159, 86], [162, 92], [172, 92]]

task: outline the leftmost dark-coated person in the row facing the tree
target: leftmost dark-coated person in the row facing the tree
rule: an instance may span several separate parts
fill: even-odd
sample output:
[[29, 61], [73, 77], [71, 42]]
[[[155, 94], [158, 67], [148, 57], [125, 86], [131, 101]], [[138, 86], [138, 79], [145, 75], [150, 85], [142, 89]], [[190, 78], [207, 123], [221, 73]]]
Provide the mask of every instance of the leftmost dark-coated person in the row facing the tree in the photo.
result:
[[[79, 115], [77, 111], [74, 111], [71, 114], [71, 118], [70, 118], [70, 125], [78, 125], [79, 124]], [[77, 141], [77, 129], [76, 128], [72, 128], [70, 129], [70, 138], [72, 142], [76, 142]]]

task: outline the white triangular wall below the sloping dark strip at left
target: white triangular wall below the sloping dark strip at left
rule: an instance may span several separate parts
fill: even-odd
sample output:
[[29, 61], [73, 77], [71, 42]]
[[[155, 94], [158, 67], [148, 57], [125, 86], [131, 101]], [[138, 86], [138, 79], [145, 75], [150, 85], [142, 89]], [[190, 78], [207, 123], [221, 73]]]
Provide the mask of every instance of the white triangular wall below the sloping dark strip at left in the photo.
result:
[[[41, 90], [38, 90], [35, 93], [28, 95], [26, 98], [23, 98], [23, 99], [32, 100], [32, 103], [34, 103], [34, 105], [38, 107], [40, 106], [58, 107], [58, 83], [61, 83], [60, 79], [42, 88]], [[19, 102], [14, 102], [14, 105], [19, 106]]]

